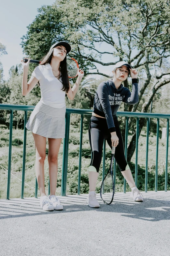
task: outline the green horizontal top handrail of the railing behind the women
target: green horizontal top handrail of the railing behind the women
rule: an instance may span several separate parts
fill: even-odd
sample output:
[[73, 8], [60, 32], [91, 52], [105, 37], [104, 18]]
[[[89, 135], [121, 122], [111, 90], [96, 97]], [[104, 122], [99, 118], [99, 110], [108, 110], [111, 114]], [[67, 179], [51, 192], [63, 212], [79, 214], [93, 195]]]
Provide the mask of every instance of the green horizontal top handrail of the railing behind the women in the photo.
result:
[[[35, 106], [29, 105], [15, 105], [15, 104], [0, 104], [1, 110], [21, 110], [21, 111], [33, 111]], [[66, 108], [67, 113], [72, 114], [92, 114], [92, 109], [69, 109]], [[125, 117], [142, 117], [142, 118], [165, 118], [170, 119], [170, 114], [160, 114], [160, 113], [143, 113], [143, 112], [127, 112], [127, 111], [118, 111], [118, 116]]]

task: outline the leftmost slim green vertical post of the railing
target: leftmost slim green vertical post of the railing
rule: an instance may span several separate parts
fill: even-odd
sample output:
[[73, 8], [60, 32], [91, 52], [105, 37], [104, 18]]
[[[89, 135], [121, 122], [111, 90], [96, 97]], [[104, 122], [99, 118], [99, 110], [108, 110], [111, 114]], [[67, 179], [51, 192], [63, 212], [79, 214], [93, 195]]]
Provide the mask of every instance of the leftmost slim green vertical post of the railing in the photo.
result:
[[7, 180], [7, 199], [9, 200], [10, 193], [10, 179], [11, 179], [11, 149], [12, 149], [12, 123], [13, 111], [10, 111], [10, 125], [9, 125], [9, 153], [8, 153], [8, 180]]

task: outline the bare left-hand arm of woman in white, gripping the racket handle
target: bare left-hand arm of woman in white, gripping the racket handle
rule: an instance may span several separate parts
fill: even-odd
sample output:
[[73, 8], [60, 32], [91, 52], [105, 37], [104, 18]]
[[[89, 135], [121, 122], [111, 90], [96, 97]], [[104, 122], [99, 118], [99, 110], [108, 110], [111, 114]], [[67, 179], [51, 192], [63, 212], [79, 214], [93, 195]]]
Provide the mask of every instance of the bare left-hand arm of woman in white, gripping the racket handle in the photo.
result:
[[28, 81], [29, 62], [30, 62], [30, 59], [26, 63], [22, 62], [22, 65], [23, 65], [22, 95], [23, 96], [26, 96], [27, 94], [29, 94], [38, 82], [38, 79], [33, 76], [31, 76], [30, 80]]

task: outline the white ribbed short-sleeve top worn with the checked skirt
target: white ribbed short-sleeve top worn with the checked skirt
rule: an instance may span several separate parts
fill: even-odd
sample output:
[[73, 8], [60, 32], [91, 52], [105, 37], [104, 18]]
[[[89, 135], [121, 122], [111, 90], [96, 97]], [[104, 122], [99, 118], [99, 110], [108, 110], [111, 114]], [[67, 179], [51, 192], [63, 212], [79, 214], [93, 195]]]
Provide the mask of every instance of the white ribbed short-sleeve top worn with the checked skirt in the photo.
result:
[[52, 73], [51, 65], [39, 65], [35, 68], [32, 76], [36, 77], [40, 83], [40, 101], [53, 108], [65, 107], [65, 92], [62, 91], [63, 84]]

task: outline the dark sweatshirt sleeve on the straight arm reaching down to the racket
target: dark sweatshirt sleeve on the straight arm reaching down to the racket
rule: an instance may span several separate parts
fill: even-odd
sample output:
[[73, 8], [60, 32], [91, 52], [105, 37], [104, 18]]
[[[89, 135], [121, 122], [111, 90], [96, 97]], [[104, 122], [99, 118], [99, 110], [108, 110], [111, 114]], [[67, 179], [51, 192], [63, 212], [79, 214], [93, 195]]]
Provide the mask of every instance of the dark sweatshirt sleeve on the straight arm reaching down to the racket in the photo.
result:
[[106, 115], [106, 122], [108, 125], [109, 132], [116, 131], [109, 102], [107, 85], [104, 82], [99, 84], [96, 93], [98, 94], [100, 103], [102, 105], [102, 109]]

